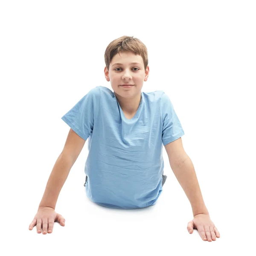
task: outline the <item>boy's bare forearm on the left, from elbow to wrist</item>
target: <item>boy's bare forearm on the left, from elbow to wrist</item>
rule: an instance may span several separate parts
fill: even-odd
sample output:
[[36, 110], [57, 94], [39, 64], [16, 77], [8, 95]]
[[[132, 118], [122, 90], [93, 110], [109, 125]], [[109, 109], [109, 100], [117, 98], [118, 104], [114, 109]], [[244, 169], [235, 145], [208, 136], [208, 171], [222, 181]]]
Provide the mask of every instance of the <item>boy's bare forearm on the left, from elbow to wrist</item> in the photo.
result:
[[52, 207], [55, 209], [59, 193], [67, 180], [67, 176], [69, 175], [72, 166], [72, 160], [69, 157], [64, 157], [60, 154], [49, 176], [39, 207]]

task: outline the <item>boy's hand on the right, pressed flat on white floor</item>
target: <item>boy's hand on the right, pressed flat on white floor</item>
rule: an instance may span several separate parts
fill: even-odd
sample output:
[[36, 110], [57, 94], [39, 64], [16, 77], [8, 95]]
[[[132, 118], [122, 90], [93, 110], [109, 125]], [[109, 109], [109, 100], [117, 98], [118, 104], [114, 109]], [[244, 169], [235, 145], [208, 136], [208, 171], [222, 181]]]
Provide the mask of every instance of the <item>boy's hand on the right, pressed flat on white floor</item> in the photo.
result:
[[217, 228], [213, 224], [208, 214], [197, 214], [194, 216], [192, 221], [189, 221], [187, 230], [191, 230], [189, 233], [193, 233], [193, 228], [198, 230], [201, 238], [204, 241], [211, 242], [212, 240], [216, 240], [216, 237], [220, 237], [220, 233]]

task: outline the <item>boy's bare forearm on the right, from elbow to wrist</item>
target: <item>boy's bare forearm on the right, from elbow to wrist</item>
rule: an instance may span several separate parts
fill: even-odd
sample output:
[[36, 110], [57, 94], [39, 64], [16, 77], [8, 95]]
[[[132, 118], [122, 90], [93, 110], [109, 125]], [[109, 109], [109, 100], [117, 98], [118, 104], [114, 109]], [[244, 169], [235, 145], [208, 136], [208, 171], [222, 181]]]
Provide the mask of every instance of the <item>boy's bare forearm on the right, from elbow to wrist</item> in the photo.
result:
[[194, 165], [187, 156], [179, 166], [171, 166], [180, 186], [183, 188], [192, 207], [193, 215], [199, 213], [209, 214], [203, 200], [203, 196], [195, 174]]

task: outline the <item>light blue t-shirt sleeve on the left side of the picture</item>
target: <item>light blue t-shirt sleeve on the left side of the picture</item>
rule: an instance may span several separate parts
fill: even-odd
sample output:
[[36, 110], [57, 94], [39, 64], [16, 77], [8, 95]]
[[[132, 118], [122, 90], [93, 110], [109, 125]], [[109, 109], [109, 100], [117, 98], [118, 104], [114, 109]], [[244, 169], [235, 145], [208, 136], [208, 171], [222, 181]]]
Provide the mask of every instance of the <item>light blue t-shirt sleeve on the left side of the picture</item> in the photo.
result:
[[99, 112], [100, 90], [90, 90], [61, 119], [81, 138], [87, 140], [93, 131], [94, 120]]

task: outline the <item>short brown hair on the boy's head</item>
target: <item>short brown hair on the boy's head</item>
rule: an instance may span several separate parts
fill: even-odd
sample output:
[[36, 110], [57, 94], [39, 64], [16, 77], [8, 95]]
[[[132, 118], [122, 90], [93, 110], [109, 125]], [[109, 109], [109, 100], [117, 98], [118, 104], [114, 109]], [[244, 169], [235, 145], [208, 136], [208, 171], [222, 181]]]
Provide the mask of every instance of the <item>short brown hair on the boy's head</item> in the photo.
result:
[[109, 70], [110, 62], [114, 55], [119, 52], [133, 52], [136, 55], [140, 55], [143, 58], [144, 67], [148, 66], [148, 50], [145, 44], [138, 38], [133, 36], [121, 36], [113, 40], [105, 50], [105, 64], [107, 70]]

